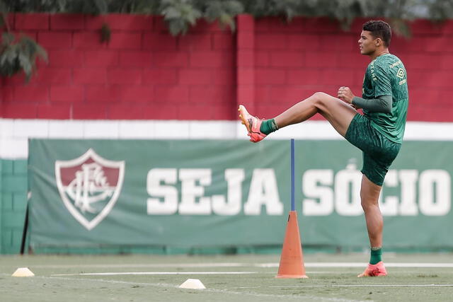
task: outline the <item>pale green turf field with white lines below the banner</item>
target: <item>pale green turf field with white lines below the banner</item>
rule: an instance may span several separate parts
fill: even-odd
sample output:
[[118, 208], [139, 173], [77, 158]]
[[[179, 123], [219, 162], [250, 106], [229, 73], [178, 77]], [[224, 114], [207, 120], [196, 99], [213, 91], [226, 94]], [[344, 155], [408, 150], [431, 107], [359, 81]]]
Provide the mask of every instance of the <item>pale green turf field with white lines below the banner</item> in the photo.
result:
[[[309, 279], [275, 279], [279, 255], [4, 255], [0, 301], [453, 301], [452, 253], [386, 253], [389, 276], [374, 278], [356, 277], [366, 254], [304, 259]], [[178, 288], [189, 278], [207, 289]]]

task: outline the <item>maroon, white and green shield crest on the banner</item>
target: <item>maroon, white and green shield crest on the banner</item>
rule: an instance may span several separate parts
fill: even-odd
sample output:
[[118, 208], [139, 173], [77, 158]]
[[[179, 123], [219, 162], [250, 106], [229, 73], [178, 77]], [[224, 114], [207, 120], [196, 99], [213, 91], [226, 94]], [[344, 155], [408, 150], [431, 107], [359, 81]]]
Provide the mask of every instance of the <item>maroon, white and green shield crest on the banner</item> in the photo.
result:
[[55, 161], [55, 178], [64, 205], [88, 230], [115, 206], [125, 176], [125, 161], [109, 161], [93, 149], [70, 161]]

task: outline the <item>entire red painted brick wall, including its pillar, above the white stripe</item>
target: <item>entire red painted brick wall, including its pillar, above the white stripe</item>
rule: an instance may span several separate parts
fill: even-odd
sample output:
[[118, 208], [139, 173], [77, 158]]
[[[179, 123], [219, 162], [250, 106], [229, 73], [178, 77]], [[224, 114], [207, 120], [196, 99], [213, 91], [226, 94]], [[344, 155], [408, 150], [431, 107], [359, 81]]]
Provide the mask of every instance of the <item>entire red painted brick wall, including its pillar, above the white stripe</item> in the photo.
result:
[[[161, 17], [10, 15], [11, 28], [45, 47], [28, 84], [1, 81], [0, 117], [43, 119], [235, 120], [244, 103], [273, 117], [316, 91], [360, 95], [369, 62], [349, 32], [324, 18], [253, 20], [239, 16], [236, 33], [200, 22], [172, 37]], [[100, 42], [103, 22], [112, 30]], [[411, 24], [413, 38], [394, 37], [390, 50], [408, 71], [408, 120], [453, 121], [453, 21]], [[321, 117], [318, 117], [321, 118]]]

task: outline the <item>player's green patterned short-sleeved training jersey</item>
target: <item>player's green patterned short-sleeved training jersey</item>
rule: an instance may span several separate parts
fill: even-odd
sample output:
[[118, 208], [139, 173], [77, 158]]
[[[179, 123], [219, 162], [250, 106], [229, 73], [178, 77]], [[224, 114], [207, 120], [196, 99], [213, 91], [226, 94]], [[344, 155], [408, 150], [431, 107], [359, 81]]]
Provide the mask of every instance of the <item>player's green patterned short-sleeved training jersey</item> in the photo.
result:
[[374, 129], [401, 144], [408, 112], [408, 83], [403, 62], [393, 54], [383, 54], [369, 63], [363, 79], [362, 98], [373, 99], [382, 95], [392, 97], [390, 113], [365, 109], [363, 113]]

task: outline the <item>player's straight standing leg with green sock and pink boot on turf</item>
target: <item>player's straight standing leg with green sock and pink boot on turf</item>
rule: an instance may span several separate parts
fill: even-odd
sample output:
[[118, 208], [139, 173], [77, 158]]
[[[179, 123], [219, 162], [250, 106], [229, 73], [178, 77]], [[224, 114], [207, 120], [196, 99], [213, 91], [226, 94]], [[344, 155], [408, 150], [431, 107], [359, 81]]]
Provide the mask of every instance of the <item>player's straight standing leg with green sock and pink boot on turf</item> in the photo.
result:
[[360, 187], [360, 199], [362, 209], [365, 212], [369, 244], [371, 246], [371, 257], [369, 265], [362, 274], [357, 277], [378, 277], [386, 276], [387, 272], [382, 262], [382, 220], [381, 210], [379, 209], [379, 194], [382, 187], [374, 184], [365, 175], [362, 176], [362, 186]]

